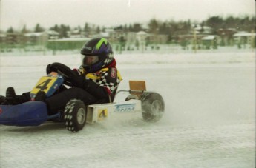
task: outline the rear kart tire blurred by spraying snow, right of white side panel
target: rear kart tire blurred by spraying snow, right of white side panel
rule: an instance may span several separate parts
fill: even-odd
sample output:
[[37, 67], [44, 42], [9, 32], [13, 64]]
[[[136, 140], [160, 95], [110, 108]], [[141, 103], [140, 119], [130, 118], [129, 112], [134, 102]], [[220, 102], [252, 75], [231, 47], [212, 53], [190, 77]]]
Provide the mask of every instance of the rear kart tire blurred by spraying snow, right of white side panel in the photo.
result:
[[147, 122], [159, 121], [165, 110], [163, 97], [159, 93], [143, 93], [140, 96], [142, 103], [142, 118]]

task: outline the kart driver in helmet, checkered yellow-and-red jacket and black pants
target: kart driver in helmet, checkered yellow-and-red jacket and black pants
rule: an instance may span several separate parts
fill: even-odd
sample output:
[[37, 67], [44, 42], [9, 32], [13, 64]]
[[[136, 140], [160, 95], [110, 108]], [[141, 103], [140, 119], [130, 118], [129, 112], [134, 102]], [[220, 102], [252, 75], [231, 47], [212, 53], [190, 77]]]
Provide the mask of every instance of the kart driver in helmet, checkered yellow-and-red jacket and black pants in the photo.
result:
[[[122, 81], [116, 69], [116, 61], [111, 44], [105, 38], [93, 38], [86, 42], [81, 50], [82, 65], [74, 70], [77, 75], [70, 78], [70, 88], [62, 85], [59, 91], [49, 98], [39, 91], [35, 101], [47, 104], [48, 115], [64, 110], [71, 99], [79, 99], [88, 104], [109, 103], [114, 100], [119, 82]], [[47, 65], [47, 74], [56, 70], [51, 64]], [[0, 95], [1, 105], [16, 105], [30, 101], [30, 93], [16, 95], [13, 87], [8, 87], [6, 97]]]

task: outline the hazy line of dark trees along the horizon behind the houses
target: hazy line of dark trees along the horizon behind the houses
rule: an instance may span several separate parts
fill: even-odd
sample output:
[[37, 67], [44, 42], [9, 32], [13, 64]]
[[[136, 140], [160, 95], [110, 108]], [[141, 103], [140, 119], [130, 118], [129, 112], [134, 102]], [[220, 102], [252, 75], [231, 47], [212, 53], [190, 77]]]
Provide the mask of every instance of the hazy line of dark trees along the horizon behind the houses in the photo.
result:
[[[159, 19], [150, 19], [147, 23], [147, 28], [143, 26], [140, 23], [134, 23], [134, 24], [124, 24], [119, 25], [117, 27], [114, 27], [114, 30], [120, 30], [122, 32], [139, 32], [141, 30], [145, 30], [148, 33], [153, 34], [163, 34], [168, 35], [170, 38], [172, 36], [177, 35], [183, 35], [191, 33], [191, 30], [196, 25], [200, 25], [200, 27], [211, 27], [212, 34], [217, 34], [217, 30], [219, 29], [228, 29], [228, 28], [234, 28], [237, 31], [247, 31], [251, 32], [252, 30], [255, 30], [255, 16], [240, 16], [240, 17], [234, 17], [234, 16], [228, 16], [226, 18], [223, 18], [222, 16], [210, 16], [205, 21], [201, 22], [192, 22], [190, 19], [187, 21], [161, 21]], [[40, 24], [36, 24], [34, 30], [27, 30], [26, 25], [22, 28], [20, 31], [21, 33], [28, 33], [28, 32], [42, 32], [46, 30], [44, 27], [42, 27]], [[68, 31], [71, 30], [69, 25], [65, 24], [56, 24], [53, 27], [50, 27], [49, 30], [54, 30], [59, 33], [60, 38], [66, 38], [68, 37]], [[106, 27], [99, 27], [95, 24], [89, 24], [85, 22], [85, 25], [83, 27], [74, 27], [72, 30], [76, 30], [78, 33], [84, 33], [85, 35], [90, 35], [90, 33], [100, 33], [105, 32]], [[15, 33], [16, 30], [13, 29], [13, 27], [10, 27], [7, 30], [7, 33]]]

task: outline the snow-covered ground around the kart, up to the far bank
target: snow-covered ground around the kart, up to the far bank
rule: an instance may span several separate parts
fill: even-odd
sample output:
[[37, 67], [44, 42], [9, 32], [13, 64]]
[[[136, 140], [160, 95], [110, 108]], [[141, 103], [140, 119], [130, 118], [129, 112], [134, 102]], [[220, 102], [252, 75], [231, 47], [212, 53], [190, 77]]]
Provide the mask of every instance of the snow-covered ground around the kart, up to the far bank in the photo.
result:
[[[0, 93], [31, 90], [54, 61], [78, 67], [80, 57], [1, 53]], [[76, 133], [56, 123], [0, 126], [0, 167], [255, 167], [255, 51], [122, 54], [116, 61], [119, 89], [145, 80], [163, 95], [161, 121], [124, 115]]]

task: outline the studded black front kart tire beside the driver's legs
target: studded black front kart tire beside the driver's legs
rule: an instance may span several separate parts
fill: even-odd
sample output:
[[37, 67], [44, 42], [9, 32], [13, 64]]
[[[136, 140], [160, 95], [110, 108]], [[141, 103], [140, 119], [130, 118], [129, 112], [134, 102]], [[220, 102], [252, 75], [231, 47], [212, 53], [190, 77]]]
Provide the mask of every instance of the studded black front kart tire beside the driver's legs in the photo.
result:
[[87, 110], [85, 104], [80, 100], [70, 100], [65, 106], [64, 121], [67, 130], [78, 132], [86, 123]]

